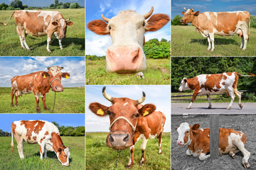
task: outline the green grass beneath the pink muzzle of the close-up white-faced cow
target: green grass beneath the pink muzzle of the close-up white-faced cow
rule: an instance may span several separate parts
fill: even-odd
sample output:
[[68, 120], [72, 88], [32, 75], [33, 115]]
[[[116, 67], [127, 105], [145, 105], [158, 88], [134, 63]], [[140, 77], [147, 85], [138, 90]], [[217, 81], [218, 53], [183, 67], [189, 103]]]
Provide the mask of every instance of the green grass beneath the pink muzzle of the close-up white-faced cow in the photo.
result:
[[146, 59], [145, 79], [135, 74], [115, 74], [106, 72], [105, 60], [86, 61], [86, 84], [170, 84], [170, 59]]

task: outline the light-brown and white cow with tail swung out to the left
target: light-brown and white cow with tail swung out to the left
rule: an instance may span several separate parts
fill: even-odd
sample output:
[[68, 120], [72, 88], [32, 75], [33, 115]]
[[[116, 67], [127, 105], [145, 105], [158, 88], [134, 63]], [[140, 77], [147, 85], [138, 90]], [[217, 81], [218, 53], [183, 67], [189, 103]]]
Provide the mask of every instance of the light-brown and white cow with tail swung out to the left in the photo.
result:
[[[26, 43], [26, 35], [35, 37], [47, 35], [47, 51], [50, 51], [50, 40], [54, 33], [58, 39], [60, 49], [63, 49], [61, 40], [65, 38], [67, 26], [72, 26], [73, 22], [69, 18], [65, 20], [63, 15], [58, 11], [14, 11], [11, 16], [14, 16], [16, 21], [16, 30], [21, 41], [21, 47], [30, 50]], [[9, 21], [11, 19], [9, 18]], [[7, 26], [7, 23], [2, 23]], [[25, 46], [24, 46], [25, 45]]]

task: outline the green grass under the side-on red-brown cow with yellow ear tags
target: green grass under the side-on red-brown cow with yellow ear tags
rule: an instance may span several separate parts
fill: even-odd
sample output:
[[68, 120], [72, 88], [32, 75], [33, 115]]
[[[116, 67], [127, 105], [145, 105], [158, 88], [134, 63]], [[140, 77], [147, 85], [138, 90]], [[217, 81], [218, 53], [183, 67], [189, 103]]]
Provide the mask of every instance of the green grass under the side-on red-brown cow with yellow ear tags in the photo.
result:
[[[36, 99], [33, 94], [23, 94], [18, 98], [19, 107], [11, 107], [11, 87], [0, 88], [0, 113], [36, 113]], [[53, 110], [54, 92], [46, 95], [46, 106]], [[15, 105], [15, 98], [14, 98]], [[43, 101], [39, 98], [41, 113], [51, 113], [43, 109]], [[63, 92], [56, 93], [53, 113], [85, 113], [85, 87], [64, 88]]]

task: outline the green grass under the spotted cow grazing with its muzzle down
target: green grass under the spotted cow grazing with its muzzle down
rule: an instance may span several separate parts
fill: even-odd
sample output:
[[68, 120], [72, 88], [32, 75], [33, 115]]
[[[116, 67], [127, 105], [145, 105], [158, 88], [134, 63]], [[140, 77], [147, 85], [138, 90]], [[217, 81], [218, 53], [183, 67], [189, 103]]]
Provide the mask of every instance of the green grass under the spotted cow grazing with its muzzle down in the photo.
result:
[[47, 158], [41, 161], [39, 145], [29, 145], [24, 142], [21, 160], [14, 139], [14, 153], [11, 152], [11, 137], [0, 137], [0, 169], [41, 170], [41, 169], [85, 169], [85, 137], [61, 137], [65, 147], [70, 147], [70, 166], [63, 166], [54, 152], [48, 152]]

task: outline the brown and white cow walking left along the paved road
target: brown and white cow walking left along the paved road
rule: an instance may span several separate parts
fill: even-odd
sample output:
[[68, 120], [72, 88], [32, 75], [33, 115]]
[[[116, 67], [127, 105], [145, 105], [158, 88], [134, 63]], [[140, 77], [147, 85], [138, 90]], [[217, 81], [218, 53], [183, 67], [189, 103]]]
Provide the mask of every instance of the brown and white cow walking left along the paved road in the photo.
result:
[[200, 74], [191, 79], [185, 77], [181, 81], [181, 86], [178, 91], [193, 90], [193, 97], [191, 103], [187, 107], [191, 108], [193, 101], [195, 101], [197, 95], [206, 94], [209, 101], [208, 108], [211, 108], [210, 94], [223, 94], [224, 92], [230, 96], [231, 102], [227, 110], [230, 110], [235, 95], [238, 96], [238, 105], [242, 109], [241, 93], [238, 91], [238, 75], [242, 77], [255, 77], [255, 74], [242, 75], [237, 72], [227, 72], [222, 74]]

